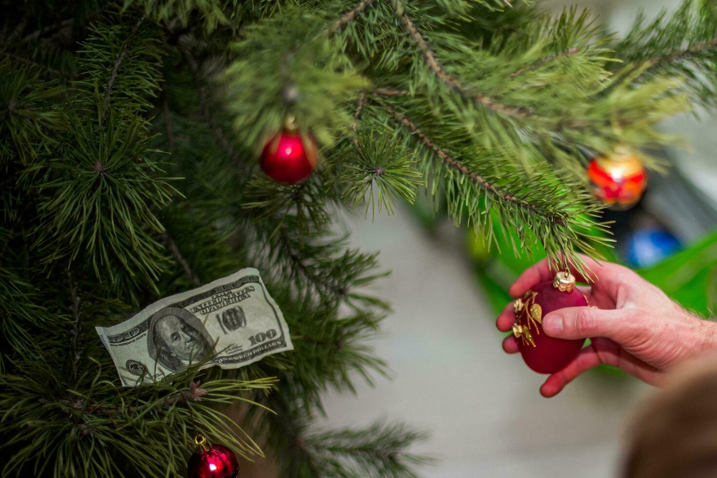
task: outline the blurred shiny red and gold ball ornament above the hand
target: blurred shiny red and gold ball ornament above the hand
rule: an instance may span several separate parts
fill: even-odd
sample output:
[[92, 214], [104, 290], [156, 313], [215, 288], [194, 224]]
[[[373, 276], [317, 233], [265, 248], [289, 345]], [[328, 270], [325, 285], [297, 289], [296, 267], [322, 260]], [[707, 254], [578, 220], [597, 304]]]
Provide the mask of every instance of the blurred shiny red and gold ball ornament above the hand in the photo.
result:
[[629, 209], [647, 186], [645, 166], [630, 149], [618, 146], [610, 156], [592, 158], [587, 167], [594, 196], [609, 209]]

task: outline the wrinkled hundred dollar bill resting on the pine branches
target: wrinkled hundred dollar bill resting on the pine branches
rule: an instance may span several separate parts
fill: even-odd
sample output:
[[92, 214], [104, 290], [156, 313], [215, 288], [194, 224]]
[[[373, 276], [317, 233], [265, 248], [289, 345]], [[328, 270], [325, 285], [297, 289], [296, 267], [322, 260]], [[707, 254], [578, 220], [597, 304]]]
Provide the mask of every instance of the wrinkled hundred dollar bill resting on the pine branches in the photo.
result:
[[257, 269], [165, 297], [118, 325], [96, 330], [124, 386], [160, 380], [214, 354], [202, 368], [239, 368], [294, 348]]

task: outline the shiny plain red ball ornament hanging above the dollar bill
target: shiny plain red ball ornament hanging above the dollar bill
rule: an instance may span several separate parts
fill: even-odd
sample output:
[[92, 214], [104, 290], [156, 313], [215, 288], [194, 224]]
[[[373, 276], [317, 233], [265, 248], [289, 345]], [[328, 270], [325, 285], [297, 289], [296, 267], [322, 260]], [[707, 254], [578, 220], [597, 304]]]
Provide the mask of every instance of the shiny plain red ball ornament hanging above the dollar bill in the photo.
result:
[[298, 183], [311, 176], [318, 161], [316, 143], [311, 135], [301, 135], [293, 117], [285, 128], [267, 141], [259, 164], [277, 183]]

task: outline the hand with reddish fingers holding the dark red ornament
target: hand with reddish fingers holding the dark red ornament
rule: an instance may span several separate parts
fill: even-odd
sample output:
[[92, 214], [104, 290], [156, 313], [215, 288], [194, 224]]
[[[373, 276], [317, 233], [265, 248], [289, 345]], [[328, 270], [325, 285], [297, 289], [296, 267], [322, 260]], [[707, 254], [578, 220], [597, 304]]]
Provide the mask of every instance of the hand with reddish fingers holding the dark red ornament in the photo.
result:
[[[594, 307], [567, 307], [543, 317], [543, 331], [564, 339], [590, 338], [561, 371], [553, 373], [541, 386], [543, 396], [559, 393], [568, 383], [589, 368], [607, 363], [619, 367], [640, 380], [659, 386], [665, 372], [685, 359], [717, 350], [717, 324], [690, 315], [663, 291], [618, 264], [596, 262], [583, 256], [591, 281], [572, 270], [579, 287]], [[547, 259], [526, 269], [508, 291], [511, 297], [523, 294], [546, 280], [552, 280]], [[498, 316], [498, 330], [508, 332], [516, 319], [513, 303]], [[518, 352], [513, 335], [503, 340], [503, 350]]]

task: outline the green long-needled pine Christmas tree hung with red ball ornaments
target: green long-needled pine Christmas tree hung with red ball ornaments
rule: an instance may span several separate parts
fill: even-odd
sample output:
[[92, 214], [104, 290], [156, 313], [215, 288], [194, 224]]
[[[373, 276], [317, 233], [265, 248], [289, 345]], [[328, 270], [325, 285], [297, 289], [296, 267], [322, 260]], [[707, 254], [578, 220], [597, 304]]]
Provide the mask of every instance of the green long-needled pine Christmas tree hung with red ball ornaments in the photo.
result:
[[[386, 373], [366, 344], [386, 271], [336, 234], [336, 209], [424, 194], [488, 242], [580, 269], [609, 241], [590, 156], [619, 145], [660, 169], [673, 138], [656, 123], [717, 98], [711, 1], [623, 38], [504, 0], [2, 11], [3, 476], [184, 476], [198, 435], [282, 477], [414, 476], [407, 426], [311, 425], [328, 388]], [[242, 267], [294, 350], [123, 387], [95, 326]]]

